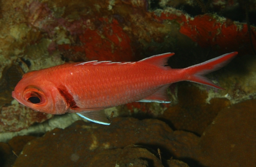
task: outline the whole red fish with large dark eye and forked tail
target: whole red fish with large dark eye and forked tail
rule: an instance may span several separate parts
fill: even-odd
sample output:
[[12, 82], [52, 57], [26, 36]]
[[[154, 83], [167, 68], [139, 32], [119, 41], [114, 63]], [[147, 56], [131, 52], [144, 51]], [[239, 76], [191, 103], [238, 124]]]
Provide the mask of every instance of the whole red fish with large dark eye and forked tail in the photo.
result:
[[166, 89], [175, 82], [191, 81], [223, 89], [204, 75], [225, 66], [237, 54], [227, 53], [183, 69], [168, 66], [174, 53], [136, 62], [66, 63], [25, 73], [12, 97], [35, 111], [75, 112], [89, 121], [109, 125], [103, 109], [135, 101], [170, 103]]

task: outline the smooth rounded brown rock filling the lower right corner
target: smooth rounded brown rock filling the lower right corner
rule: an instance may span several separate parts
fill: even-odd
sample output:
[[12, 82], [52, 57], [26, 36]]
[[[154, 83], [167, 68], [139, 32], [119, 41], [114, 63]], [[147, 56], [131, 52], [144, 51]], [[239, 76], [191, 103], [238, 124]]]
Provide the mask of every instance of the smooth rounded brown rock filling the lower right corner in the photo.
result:
[[218, 113], [201, 136], [198, 161], [210, 167], [255, 167], [256, 99]]

